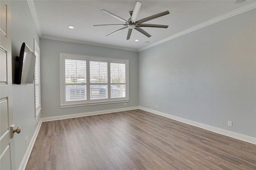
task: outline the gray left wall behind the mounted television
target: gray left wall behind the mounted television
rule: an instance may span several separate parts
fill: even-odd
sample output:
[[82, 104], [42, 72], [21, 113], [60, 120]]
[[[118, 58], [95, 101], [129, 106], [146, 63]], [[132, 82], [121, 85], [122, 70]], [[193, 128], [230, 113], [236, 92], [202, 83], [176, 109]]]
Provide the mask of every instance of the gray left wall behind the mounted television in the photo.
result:
[[[26, 1], [12, 1], [12, 60], [20, 53], [22, 42], [27, 43], [33, 50], [33, 39], [39, 45], [39, 36], [36, 32], [32, 16]], [[13, 62], [14, 65], [14, 62]], [[14, 67], [12, 68], [14, 76]], [[14, 77], [13, 77], [14, 79]], [[13, 85], [13, 117], [16, 127], [21, 127], [20, 134], [14, 136], [16, 169], [20, 166], [22, 158], [28, 148], [25, 138], [29, 142], [40, 121], [35, 120], [34, 113], [34, 85]]]

